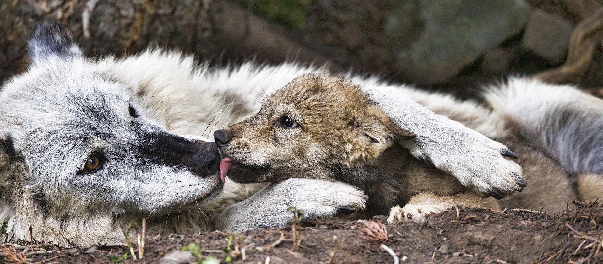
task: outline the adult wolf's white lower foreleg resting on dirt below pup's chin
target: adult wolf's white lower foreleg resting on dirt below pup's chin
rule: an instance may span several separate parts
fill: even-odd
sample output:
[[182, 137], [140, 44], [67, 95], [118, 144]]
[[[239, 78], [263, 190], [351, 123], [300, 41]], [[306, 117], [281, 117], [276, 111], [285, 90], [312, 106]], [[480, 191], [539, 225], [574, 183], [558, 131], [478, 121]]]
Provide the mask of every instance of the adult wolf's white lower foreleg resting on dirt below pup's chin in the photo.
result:
[[364, 209], [367, 198], [362, 190], [349, 184], [290, 178], [229, 206], [218, 217], [216, 228], [241, 232], [283, 227], [293, 219], [289, 207], [300, 209], [304, 222], [324, 221], [339, 213]]

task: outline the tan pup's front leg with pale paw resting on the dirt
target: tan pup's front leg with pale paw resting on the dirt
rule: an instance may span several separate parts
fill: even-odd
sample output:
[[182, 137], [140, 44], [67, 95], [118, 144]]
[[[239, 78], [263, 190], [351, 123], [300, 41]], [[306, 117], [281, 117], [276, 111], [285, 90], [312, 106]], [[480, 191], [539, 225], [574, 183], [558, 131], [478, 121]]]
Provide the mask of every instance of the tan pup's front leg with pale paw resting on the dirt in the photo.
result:
[[473, 206], [479, 208], [499, 209], [496, 200], [479, 198], [473, 193], [459, 193], [457, 195], [437, 195], [434, 193], [419, 193], [411, 197], [404, 207], [394, 206], [390, 210], [387, 220], [390, 223], [413, 220], [421, 222], [429, 216], [430, 212], [440, 213], [454, 206]]

